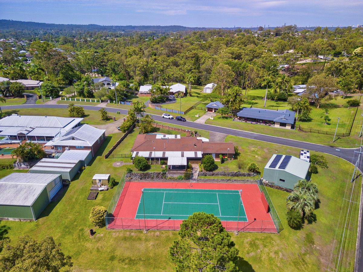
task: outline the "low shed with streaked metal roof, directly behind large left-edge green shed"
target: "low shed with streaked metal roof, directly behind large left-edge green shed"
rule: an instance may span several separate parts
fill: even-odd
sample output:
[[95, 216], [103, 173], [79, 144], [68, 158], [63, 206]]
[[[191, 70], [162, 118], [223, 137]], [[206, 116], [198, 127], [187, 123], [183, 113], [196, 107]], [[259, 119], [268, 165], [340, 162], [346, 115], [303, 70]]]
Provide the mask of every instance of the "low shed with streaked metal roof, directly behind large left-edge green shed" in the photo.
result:
[[43, 158], [30, 168], [29, 173], [60, 174], [62, 180], [71, 181], [81, 168], [79, 160]]

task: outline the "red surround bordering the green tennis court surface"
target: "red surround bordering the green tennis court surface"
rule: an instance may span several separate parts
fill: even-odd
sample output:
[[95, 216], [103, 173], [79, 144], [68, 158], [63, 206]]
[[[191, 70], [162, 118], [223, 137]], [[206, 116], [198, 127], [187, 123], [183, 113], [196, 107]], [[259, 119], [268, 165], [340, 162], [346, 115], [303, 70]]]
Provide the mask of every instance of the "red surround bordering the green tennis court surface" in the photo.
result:
[[[190, 185], [192, 187], [190, 187]], [[168, 189], [220, 189], [240, 190], [248, 222], [238, 222], [238, 231], [277, 232], [271, 215], [266, 213], [266, 199], [257, 184], [220, 184], [189, 182], [126, 182], [113, 215], [106, 218], [107, 229], [135, 230], [179, 230], [182, 220], [174, 219], [135, 219], [141, 190], [143, 188]], [[262, 198], [264, 200], [262, 200]], [[227, 231], [237, 231], [236, 221], [222, 221]]]

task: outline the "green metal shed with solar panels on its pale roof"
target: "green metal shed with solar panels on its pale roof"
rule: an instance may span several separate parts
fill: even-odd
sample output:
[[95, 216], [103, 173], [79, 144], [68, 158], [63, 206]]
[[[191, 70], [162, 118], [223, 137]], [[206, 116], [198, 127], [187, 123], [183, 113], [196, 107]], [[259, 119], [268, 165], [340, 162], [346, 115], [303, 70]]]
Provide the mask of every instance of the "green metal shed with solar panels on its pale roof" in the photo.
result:
[[310, 162], [290, 155], [273, 154], [264, 168], [263, 179], [293, 189], [299, 180], [309, 179]]

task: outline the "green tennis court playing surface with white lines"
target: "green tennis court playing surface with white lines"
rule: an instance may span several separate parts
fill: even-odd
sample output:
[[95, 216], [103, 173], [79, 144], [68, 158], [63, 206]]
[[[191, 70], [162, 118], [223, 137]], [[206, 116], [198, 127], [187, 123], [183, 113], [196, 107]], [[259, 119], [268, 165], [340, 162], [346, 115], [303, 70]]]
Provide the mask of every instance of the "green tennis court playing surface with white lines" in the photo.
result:
[[[238, 218], [238, 206], [239, 209]], [[221, 221], [245, 221], [238, 190], [145, 188], [135, 219], [187, 219], [197, 211], [214, 214]]]

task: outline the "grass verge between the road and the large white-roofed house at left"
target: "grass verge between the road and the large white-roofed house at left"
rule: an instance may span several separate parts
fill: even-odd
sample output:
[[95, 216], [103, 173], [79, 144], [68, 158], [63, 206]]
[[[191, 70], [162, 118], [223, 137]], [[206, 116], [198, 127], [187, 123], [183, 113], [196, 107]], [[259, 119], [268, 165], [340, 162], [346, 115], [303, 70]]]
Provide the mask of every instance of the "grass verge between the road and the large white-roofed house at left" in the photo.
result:
[[[16, 110], [4, 110], [7, 114], [19, 114], [19, 115], [35, 115], [35, 116], [60, 116], [69, 117], [68, 110], [62, 108], [24, 108]], [[120, 117], [121, 118], [121, 117]], [[98, 111], [85, 110], [85, 116], [83, 122], [89, 125], [104, 125], [111, 123], [112, 120], [102, 121]]]

